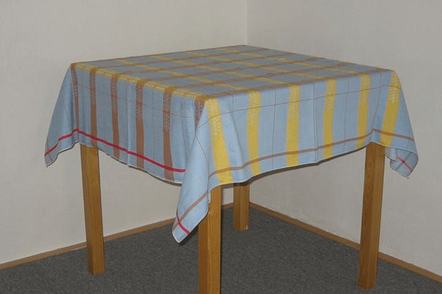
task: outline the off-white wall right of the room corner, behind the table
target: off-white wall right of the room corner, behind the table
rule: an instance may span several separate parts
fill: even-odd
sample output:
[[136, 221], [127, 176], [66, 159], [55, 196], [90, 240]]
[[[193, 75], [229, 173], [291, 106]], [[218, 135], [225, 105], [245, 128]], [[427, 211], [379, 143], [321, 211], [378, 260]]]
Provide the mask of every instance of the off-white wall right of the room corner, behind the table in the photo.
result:
[[[442, 275], [442, 2], [248, 0], [247, 26], [249, 45], [398, 73], [419, 163], [410, 179], [386, 166], [380, 250]], [[363, 163], [359, 151], [262, 177], [251, 201], [359, 242]]]

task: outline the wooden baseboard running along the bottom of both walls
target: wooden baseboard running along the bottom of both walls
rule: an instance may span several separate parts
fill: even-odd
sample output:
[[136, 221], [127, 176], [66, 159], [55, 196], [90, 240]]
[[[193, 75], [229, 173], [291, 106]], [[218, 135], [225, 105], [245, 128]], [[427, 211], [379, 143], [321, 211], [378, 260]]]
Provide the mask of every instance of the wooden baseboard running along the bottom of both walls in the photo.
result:
[[[224, 204], [224, 205], [221, 206], [222, 209], [227, 209], [227, 208], [231, 208], [231, 207], [233, 207], [233, 203], [228, 203], [228, 204]], [[350, 246], [350, 247], [352, 247], [354, 249], [359, 250], [359, 244], [356, 243], [356, 242], [353, 242], [353, 241], [350, 241], [348, 239], [345, 239], [345, 238], [339, 237], [337, 235], [331, 234], [331, 233], [329, 233], [327, 231], [321, 230], [321, 229], [319, 229], [317, 227], [314, 227], [312, 225], [309, 225], [309, 224], [307, 224], [305, 222], [295, 220], [295, 219], [290, 218], [290, 217], [288, 217], [286, 215], [283, 215], [281, 213], [278, 213], [276, 211], [273, 211], [271, 209], [268, 209], [268, 208], [266, 208], [264, 206], [261, 206], [261, 205], [258, 205], [258, 204], [252, 203], [252, 202], [250, 202], [250, 207], [254, 208], [254, 209], [258, 210], [258, 211], [261, 211], [263, 213], [266, 213], [268, 215], [271, 215], [271, 216], [273, 216], [273, 217], [275, 217], [277, 219], [280, 219], [282, 221], [287, 221], [289, 223], [292, 223], [294, 225], [302, 227], [302, 228], [304, 228], [306, 230], [309, 230], [309, 231], [311, 231], [313, 233], [316, 233], [318, 235], [321, 235], [321, 236], [324, 236], [326, 238], [329, 238], [329, 239], [331, 239], [333, 241], [339, 242], [341, 244], [344, 244], [344, 245], [347, 245], [347, 246]], [[107, 241], [118, 239], [118, 238], [121, 238], [121, 237], [126, 237], [126, 236], [130, 236], [130, 235], [138, 234], [138, 233], [141, 233], [141, 232], [145, 232], [145, 231], [148, 231], [148, 230], [152, 230], [152, 229], [155, 229], [155, 228], [159, 228], [159, 227], [162, 227], [162, 226], [165, 226], [165, 225], [169, 225], [171, 223], [173, 223], [173, 219], [168, 219], [168, 220], [165, 220], [165, 221], [159, 221], [159, 222], [155, 222], [155, 223], [152, 223], [152, 224], [144, 225], [144, 226], [141, 226], [141, 227], [138, 227], [138, 228], [135, 228], [135, 229], [131, 229], [131, 230], [127, 230], [127, 231], [124, 231], [124, 232], [120, 232], [120, 233], [112, 234], [112, 235], [109, 235], [109, 236], [105, 236], [103, 239], [104, 239], [105, 242], [107, 242]], [[82, 242], [82, 243], [79, 243], [79, 244], [70, 245], [70, 246], [67, 246], [67, 247], [58, 248], [58, 249], [51, 250], [51, 251], [48, 251], [48, 252], [44, 252], [44, 253], [28, 256], [28, 257], [25, 257], [25, 258], [13, 260], [13, 261], [10, 261], [10, 262], [7, 262], [7, 263], [0, 264], [0, 270], [11, 268], [11, 267], [18, 266], [18, 265], [21, 265], [21, 264], [25, 264], [25, 263], [28, 263], [28, 262], [40, 260], [40, 259], [43, 259], [43, 258], [46, 258], [46, 257], [55, 256], [57, 254], [69, 252], [69, 251], [72, 251], [72, 250], [80, 249], [80, 248], [83, 248], [85, 246], [86, 246], [86, 242]], [[435, 280], [435, 281], [437, 281], [439, 283], [442, 283], [442, 276], [438, 275], [438, 274], [436, 274], [434, 272], [431, 272], [429, 270], [424, 270], [424, 269], [419, 268], [419, 267], [417, 267], [417, 266], [415, 266], [413, 264], [407, 263], [407, 262], [405, 262], [403, 260], [397, 259], [395, 257], [392, 257], [392, 256], [387, 255], [387, 254], [382, 253], [382, 252], [379, 252], [379, 258], [381, 258], [381, 259], [383, 259], [383, 260], [385, 260], [385, 261], [387, 261], [389, 263], [392, 263], [394, 265], [397, 265], [397, 266], [399, 266], [401, 268], [404, 268], [404, 269], [407, 269], [407, 270], [411, 270], [411, 271], [413, 271], [413, 272], [415, 272], [417, 274], [420, 274], [420, 275], [422, 275], [424, 277], [427, 277], [427, 278]], [[86, 262], [86, 260], [85, 260], [85, 262]]]

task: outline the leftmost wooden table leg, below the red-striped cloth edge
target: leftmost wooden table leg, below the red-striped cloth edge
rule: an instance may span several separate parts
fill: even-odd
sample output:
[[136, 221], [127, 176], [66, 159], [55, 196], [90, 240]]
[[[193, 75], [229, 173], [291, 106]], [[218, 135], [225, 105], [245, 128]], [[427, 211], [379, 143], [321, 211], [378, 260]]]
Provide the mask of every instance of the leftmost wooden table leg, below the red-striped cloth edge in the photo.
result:
[[89, 271], [105, 271], [103, 218], [101, 213], [100, 168], [98, 149], [80, 145], [83, 176], [84, 222]]

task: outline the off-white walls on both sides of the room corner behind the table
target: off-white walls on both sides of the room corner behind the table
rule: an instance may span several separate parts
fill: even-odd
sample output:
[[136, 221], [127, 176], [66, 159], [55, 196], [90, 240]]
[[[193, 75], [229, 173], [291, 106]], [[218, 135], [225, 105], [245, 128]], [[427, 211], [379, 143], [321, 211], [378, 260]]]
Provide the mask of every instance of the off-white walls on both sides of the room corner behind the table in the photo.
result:
[[[43, 161], [71, 62], [247, 35], [250, 45], [396, 70], [420, 159], [409, 180], [386, 170], [381, 251], [442, 274], [441, 28], [442, 4], [430, 0], [248, 0], [247, 9], [245, 0], [1, 0], [0, 264], [85, 239], [78, 146]], [[363, 157], [261, 177], [251, 200], [358, 242]], [[173, 217], [179, 187], [100, 160], [105, 235]]]

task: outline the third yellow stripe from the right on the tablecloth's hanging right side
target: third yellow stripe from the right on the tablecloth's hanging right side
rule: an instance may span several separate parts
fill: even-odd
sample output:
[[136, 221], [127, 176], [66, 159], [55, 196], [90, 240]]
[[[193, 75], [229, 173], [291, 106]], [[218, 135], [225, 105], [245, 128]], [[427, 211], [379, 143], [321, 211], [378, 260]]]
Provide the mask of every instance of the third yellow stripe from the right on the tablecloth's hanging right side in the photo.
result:
[[[326, 97], [324, 98], [324, 145], [333, 143], [333, 112], [336, 96], [336, 80], [327, 80]], [[333, 146], [324, 147], [324, 159], [332, 156]]]

